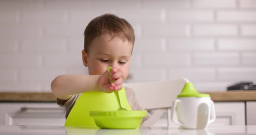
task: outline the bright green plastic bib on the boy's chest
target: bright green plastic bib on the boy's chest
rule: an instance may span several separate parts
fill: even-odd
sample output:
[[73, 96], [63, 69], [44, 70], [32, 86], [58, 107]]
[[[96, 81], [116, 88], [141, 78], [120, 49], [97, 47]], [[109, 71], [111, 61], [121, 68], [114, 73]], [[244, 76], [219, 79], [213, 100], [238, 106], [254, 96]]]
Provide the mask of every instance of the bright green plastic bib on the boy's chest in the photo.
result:
[[[132, 110], [125, 94], [125, 88], [120, 90], [122, 104], [126, 109]], [[82, 93], [76, 101], [66, 119], [65, 126], [90, 126], [98, 128], [94, 119], [90, 116], [90, 111], [116, 111], [119, 109], [118, 99], [115, 93], [86, 92]]]

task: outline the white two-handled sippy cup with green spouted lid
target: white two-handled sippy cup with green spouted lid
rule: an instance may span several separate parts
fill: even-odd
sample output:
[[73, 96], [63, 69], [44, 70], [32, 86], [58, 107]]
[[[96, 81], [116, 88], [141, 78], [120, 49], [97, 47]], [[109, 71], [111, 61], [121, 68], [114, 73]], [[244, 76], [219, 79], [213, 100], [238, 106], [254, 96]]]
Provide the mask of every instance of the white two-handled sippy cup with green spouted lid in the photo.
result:
[[188, 82], [174, 100], [171, 120], [184, 129], [204, 129], [216, 119], [214, 103], [209, 94], [200, 94]]

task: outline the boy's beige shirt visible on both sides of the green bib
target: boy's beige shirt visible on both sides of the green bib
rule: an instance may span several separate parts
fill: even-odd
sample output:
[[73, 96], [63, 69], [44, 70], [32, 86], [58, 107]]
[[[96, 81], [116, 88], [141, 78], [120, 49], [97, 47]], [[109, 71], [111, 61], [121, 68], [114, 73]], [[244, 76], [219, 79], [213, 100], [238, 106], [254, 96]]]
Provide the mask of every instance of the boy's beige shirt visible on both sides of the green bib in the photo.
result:
[[[125, 94], [126, 94], [126, 98], [128, 100], [129, 105], [131, 106], [132, 110], [144, 110], [142, 108], [142, 106], [139, 105], [138, 100], [135, 96], [135, 92], [131, 88], [125, 87]], [[57, 100], [56, 100], [57, 104], [59, 106], [65, 107], [65, 109], [66, 109], [66, 118], [69, 116], [71, 109], [75, 105], [75, 102], [79, 98], [80, 95], [81, 95], [81, 93], [72, 95], [69, 100], [61, 100], [61, 99], [57, 98]], [[149, 117], [150, 117], [150, 114], [147, 113], [147, 116], [143, 118], [142, 122], [146, 121]]]

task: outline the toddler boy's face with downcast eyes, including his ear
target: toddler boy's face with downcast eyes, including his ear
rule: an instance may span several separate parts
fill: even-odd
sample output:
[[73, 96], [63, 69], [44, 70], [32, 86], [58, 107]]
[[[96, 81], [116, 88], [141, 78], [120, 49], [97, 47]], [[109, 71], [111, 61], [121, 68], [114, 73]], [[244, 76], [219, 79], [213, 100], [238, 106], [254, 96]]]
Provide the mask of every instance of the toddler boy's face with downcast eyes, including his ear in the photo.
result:
[[108, 66], [117, 67], [125, 80], [131, 61], [132, 44], [119, 37], [112, 40], [112, 35], [102, 34], [96, 37], [89, 48], [89, 53], [82, 51], [83, 63], [89, 69], [89, 75], [101, 75]]

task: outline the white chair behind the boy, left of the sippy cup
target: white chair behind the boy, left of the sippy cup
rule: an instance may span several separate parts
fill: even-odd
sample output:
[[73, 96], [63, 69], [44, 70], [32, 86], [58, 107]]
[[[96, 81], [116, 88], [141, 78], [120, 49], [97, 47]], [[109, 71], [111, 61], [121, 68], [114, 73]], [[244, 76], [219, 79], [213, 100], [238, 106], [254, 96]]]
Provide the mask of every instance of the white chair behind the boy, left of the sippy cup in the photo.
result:
[[146, 110], [154, 110], [145, 124], [153, 126], [155, 122], [167, 110], [167, 126], [171, 123], [171, 105], [181, 92], [184, 84], [189, 82], [186, 78], [176, 80], [164, 80], [146, 83], [126, 83], [124, 87], [129, 87], [135, 91], [138, 103]]

